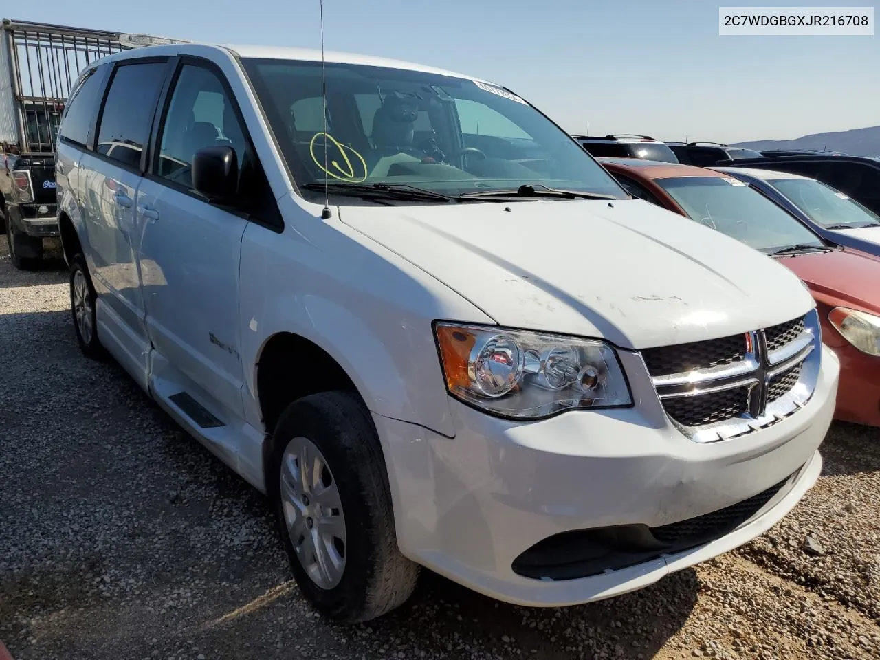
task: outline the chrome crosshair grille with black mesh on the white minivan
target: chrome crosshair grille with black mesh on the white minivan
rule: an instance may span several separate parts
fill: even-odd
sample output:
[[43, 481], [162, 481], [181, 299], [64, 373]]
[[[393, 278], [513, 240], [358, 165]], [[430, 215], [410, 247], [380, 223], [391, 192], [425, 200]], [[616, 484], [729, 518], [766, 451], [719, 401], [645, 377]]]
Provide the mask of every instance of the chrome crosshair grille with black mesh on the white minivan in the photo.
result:
[[778, 422], [816, 386], [821, 337], [815, 310], [721, 339], [642, 351], [666, 414], [708, 443]]

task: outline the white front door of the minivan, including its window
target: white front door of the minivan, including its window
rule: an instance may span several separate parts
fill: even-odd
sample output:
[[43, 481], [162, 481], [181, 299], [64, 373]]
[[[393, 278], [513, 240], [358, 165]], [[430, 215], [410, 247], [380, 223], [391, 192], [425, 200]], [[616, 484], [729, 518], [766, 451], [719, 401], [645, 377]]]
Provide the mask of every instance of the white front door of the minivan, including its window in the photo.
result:
[[196, 194], [191, 165], [197, 150], [216, 145], [231, 146], [242, 163], [246, 141], [214, 70], [183, 63], [171, 94], [156, 138], [157, 163], [137, 200], [147, 330], [154, 348], [183, 375], [183, 389], [215, 414], [240, 417], [238, 262], [247, 220]]

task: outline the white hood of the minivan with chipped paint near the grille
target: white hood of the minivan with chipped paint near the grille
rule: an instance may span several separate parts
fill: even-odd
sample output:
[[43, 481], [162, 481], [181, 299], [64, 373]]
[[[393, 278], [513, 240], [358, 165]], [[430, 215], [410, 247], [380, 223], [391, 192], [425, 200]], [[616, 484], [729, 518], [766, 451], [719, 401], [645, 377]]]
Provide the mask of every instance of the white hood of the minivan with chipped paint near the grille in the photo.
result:
[[649, 348], [813, 306], [765, 254], [642, 200], [346, 206], [340, 218], [502, 326]]

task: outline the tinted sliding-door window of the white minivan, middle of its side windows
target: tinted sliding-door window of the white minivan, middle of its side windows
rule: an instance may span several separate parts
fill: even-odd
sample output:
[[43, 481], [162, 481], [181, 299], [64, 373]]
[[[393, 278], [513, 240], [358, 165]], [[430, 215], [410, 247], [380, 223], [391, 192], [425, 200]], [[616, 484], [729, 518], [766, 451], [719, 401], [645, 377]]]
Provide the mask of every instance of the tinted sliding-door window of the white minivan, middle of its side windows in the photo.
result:
[[100, 153], [130, 167], [140, 164], [164, 80], [165, 62], [124, 64], [116, 70], [98, 128]]

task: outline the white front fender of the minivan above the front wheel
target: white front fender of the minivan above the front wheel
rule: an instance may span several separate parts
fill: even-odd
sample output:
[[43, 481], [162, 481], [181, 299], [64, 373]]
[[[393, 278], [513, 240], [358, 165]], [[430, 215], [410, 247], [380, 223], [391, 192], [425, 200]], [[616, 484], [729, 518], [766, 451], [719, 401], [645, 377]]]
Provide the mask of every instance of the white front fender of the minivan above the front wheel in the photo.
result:
[[[340, 363], [374, 413], [454, 435], [431, 323], [492, 319], [335, 219], [290, 196], [279, 203], [284, 233], [251, 225], [242, 244], [243, 363], [255, 365], [272, 335], [299, 334]], [[244, 398], [248, 422], [260, 423], [253, 366]]]

